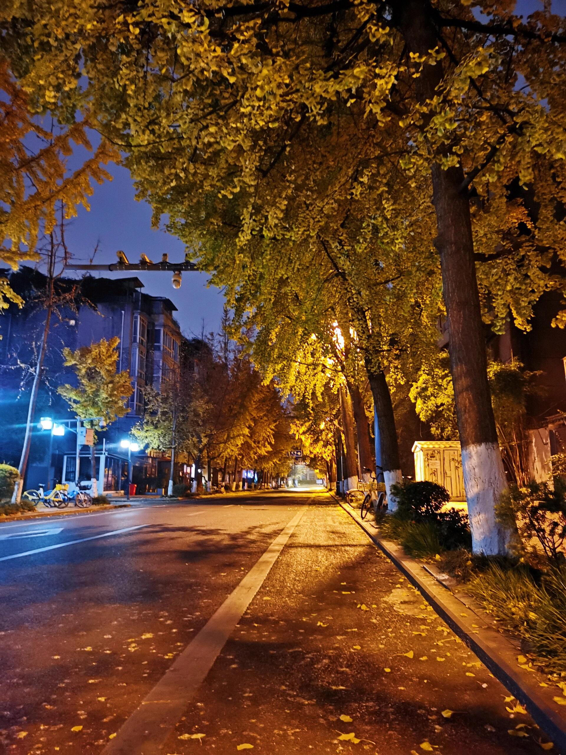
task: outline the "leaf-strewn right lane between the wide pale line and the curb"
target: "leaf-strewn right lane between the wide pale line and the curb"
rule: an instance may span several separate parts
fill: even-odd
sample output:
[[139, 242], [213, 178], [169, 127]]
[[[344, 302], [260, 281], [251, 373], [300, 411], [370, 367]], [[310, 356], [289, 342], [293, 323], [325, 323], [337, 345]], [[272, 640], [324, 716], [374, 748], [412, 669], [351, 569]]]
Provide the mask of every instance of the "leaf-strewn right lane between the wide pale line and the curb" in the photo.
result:
[[163, 751], [530, 755], [539, 742], [524, 708], [327, 505], [306, 510]]

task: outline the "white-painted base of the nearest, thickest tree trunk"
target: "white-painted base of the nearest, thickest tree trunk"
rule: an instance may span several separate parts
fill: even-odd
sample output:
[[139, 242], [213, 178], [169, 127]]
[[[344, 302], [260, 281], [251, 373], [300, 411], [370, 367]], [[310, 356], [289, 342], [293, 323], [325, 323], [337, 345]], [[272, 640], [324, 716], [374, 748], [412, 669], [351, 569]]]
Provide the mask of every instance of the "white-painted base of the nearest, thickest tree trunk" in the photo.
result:
[[499, 445], [477, 443], [462, 448], [462, 472], [473, 551], [502, 556], [509, 536], [495, 516], [495, 507], [507, 487]]

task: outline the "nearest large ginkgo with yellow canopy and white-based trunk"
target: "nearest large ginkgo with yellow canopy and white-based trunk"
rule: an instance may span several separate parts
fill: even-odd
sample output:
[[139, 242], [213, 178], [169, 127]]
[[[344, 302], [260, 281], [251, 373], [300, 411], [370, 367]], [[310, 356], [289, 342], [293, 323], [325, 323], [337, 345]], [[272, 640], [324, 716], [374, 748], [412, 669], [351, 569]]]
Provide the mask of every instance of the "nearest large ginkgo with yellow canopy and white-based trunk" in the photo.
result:
[[[317, 239], [343, 222], [345, 197], [370, 186], [387, 199], [391, 168], [429, 199], [474, 547], [501, 553], [494, 506], [506, 481], [475, 261], [494, 262], [484, 282], [498, 288], [499, 319], [510, 304], [524, 319], [562, 286], [546, 262], [566, 254], [564, 20], [549, 6], [523, 20], [505, 0], [85, 0], [72, 13], [33, 0], [8, 3], [0, 20], [38, 106], [69, 119], [88, 109], [128, 150], [156, 220], [194, 208], [219, 233], [238, 230], [230, 254], [195, 245], [219, 281], [245, 276], [256, 235]], [[527, 245], [500, 246], [527, 218], [524, 187], [537, 225]], [[513, 294], [501, 271], [518, 260], [529, 285]]]

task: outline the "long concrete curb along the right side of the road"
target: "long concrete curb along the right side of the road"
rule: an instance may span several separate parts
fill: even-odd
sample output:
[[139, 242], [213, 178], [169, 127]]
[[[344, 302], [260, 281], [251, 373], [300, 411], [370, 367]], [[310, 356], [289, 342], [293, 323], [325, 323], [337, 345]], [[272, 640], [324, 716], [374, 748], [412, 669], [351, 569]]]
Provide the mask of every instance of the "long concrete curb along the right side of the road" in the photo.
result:
[[561, 711], [557, 710], [558, 704], [552, 700], [554, 696], [561, 696], [558, 687], [541, 687], [538, 675], [533, 676], [537, 671], [532, 667], [519, 666], [517, 656], [521, 652], [518, 647], [489, 626], [484, 615], [475, 613], [467, 600], [463, 602], [449, 587], [441, 584], [430, 569], [406, 556], [400, 546], [374, 535], [368, 525], [343, 501], [337, 498], [335, 500], [417, 588], [454, 634], [475, 652], [496, 679], [527, 708], [540, 729], [554, 742], [556, 750], [553, 751], [566, 753], [566, 716], [561, 715]]

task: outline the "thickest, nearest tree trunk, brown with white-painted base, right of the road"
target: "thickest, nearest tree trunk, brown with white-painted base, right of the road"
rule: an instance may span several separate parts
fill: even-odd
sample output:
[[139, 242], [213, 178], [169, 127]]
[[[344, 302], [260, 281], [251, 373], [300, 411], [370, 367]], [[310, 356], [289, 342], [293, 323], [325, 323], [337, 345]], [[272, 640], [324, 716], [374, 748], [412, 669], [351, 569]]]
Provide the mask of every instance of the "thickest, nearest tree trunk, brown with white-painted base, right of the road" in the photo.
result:
[[[408, 51], [427, 54], [438, 45], [428, 0], [405, 0], [398, 23]], [[442, 79], [442, 66], [423, 66], [415, 79], [422, 102], [431, 99]], [[488, 384], [484, 325], [475, 276], [474, 242], [467, 188], [460, 165], [442, 170], [432, 165], [432, 191], [440, 254], [452, 381], [462, 444], [462, 470], [475, 553], [506, 552], [506, 532], [495, 506], [506, 488]]]

